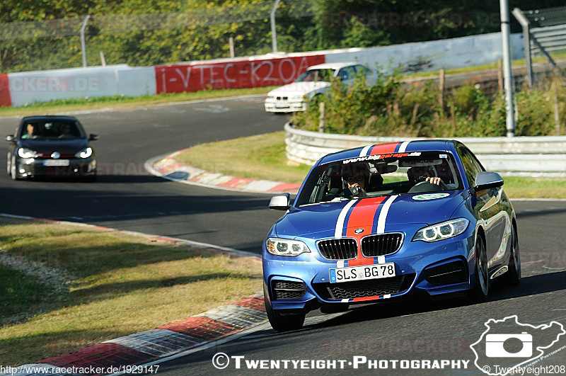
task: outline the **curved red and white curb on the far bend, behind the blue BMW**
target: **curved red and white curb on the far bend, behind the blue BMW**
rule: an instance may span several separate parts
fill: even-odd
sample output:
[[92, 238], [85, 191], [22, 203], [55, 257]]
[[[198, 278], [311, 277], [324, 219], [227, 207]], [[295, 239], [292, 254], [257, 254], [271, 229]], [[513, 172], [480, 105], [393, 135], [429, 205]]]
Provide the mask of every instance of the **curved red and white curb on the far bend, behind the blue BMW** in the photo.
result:
[[145, 168], [150, 173], [171, 181], [251, 193], [297, 193], [300, 184], [267, 181], [255, 178], [241, 178], [197, 169], [175, 161], [175, 156], [186, 149], [169, 156], [159, 156], [146, 161]]

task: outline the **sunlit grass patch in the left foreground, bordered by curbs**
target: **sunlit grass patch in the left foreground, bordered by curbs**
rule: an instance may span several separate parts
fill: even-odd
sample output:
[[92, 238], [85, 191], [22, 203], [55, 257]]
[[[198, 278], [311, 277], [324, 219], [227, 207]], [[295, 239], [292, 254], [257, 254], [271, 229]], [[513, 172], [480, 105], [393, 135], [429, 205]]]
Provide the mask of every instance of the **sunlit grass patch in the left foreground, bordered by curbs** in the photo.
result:
[[[251, 258], [69, 224], [0, 218], [0, 228], [4, 366], [153, 329], [261, 290], [261, 265]], [[14, 259], [27, 267], [14, 270]]]

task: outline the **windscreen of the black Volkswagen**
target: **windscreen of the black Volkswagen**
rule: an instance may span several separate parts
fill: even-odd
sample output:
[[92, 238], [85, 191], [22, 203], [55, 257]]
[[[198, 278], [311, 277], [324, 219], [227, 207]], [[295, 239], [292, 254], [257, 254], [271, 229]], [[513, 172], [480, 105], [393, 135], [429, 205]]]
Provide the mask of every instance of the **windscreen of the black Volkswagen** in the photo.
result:
[[64, 140], [86, 138], [81, 124], [76, 120], [30, 120], [20, 129], [21, 139]]

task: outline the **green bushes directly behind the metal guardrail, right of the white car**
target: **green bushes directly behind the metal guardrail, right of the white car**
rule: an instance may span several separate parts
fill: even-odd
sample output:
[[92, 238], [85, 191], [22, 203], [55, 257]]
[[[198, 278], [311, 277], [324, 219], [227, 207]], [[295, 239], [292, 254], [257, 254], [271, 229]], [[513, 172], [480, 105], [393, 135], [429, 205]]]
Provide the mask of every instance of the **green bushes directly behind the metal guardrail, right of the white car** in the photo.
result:
[[[566, 134], [566, 89], [555, 78], [545, 89], [516, 93], [516, 136]], [[497, 137], [505, 136], [502, 94], [488, 96], [466, 84], [444, 94], [433, 81], [400, 85], [399, 74], [381, 75], [375, 86], [357, 77], [352, 85], [333, 81], [328, 94], [317, 96], [304, 113], [291, 119], [296, 127], [318, 130], [319, 102], [325, 102], [325, 132], [366, 136]], [[556, 106], [555, 106], [556, 105]], [[558, 127], [555, 121], [558, 108]], [[558, 129], [557, 129], [558, 128]]]

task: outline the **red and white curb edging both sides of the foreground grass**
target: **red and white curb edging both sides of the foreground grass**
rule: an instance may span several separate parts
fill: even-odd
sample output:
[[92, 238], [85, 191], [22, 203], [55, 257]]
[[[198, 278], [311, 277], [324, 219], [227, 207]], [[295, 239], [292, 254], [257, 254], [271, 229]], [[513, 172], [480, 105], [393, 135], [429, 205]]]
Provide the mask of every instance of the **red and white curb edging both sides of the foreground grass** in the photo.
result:
[[[76, 222], [45, 220], [41, 218], [19, 215], [0, 214], [23, 220], [42, 220], [63, 224], [74, 224], [85, 227], [104, 229], [106, 231], [136, 234], [149, 239], [161, 239], [175, 243], [197, 246], [236, 256], [253, 257], [260, 261], [254, 253], [238, 251], [212, 244], [197, 243], [185, 239], [159, 237], [139, 232], [120, 231], [108, 227]], [[71, 353], [39, 360], [36, 363], [12, 368], [0, 375], [108, 375], [126, 372], [127, 367], [159, 363], [160, 359], [187, 353], [191, 349], [218, 341], [221, 338], [238, 334], [267, 322], [265, 305], [261, 294], [246, 297], [232, 304], [211, 309], [203, 314], [159, 326], [156, 329], [141, 331], [120, 338], [110, 339], [103, 343], [81, 348]], [[163, 361], [163, 360], [162, 360]], [[131, 368], [134, 369], [134, 368]]]

